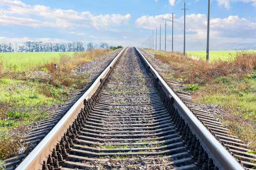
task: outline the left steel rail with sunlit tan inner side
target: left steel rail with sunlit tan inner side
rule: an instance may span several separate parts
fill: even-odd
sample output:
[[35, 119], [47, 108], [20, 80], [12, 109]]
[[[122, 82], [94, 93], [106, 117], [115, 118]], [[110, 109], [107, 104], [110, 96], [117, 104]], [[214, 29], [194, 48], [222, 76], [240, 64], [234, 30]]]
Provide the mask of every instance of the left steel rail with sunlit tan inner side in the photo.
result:
[[[125, 48], [126, 49], [126, 48]], [[101, 84], [101, 80], [105, 78], [110, 70], [113, 69], [113, 65], [118, 61], [119, 57], [123, 54], [123, 49], [108, 65], [108, 67], [102, 72], [102, 74], [94, 81], [92, 86], [82, 95], [81, 98], [67, 111], [67, 113], [61, 118], [61, 120], [54, 126], [54, 128], [41, 140], [41, 142], [31, 151], [29, 155], [20, 163], [16, 170], [41, 170], [43, 161], [47, 160], [48, 155], [51, 155], [53, 148], [61, 140], [64, 133], [72, 125], [73, 121], [77, 118], [81, 108], [84, 107], [84, 101], [91, 98], [98, 86]]]

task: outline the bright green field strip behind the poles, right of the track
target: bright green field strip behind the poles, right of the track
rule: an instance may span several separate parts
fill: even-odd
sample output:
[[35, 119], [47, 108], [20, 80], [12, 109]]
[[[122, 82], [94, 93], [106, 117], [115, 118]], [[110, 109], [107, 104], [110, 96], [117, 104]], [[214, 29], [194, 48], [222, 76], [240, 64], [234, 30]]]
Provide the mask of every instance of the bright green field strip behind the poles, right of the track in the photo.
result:
[[[236, 54], [237, 51], [241, 50], [210, 50], [209, 51], [209, 60], [215, 61], [215, 60], [227, 60], [228, 57], [231, 54]], [[246, 50], [249, 52], [256, 53], [256, 50]], [[188, 56], [195, 56], [200, 59], [206, 60], [206, 50], [205, 51], [186, 51], [186, 54]]]

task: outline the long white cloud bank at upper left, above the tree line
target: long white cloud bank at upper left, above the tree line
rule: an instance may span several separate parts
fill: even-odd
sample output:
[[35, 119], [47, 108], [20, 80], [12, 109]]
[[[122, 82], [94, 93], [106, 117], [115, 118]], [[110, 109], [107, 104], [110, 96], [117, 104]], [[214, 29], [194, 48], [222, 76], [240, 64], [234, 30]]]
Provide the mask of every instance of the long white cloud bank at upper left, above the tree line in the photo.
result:
[[[12, 21], [6, 20], [8, 17]], [[75, 10], [51, 9], [44, 5], [26, 5], [20, 0], [0, 0], [0, 18], [3, 18], [0, 21], [1, 25], [67, 27], [65, 23], [68, 23], [69, 25], [106, 29], [111, 26], [128, 24], [131, 15], [92, 15], [89, 11], [80, 13]]]

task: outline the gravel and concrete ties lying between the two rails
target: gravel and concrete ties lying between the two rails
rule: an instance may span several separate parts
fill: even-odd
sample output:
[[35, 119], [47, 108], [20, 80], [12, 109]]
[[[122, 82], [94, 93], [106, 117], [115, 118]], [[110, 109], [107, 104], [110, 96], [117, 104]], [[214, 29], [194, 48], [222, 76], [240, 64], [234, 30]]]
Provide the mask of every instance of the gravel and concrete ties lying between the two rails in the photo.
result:
[[[176, 160], [190, 163], [187, 154], [170, 154], [171, 137], [165, 134], [176, 136], [176, 132], [150, 78], [134, 49], [126, 50], [78, 136], [76, 150], [71, 150], [69, 162], [62, 167], [72, 167], [72, 161], [78, 169], [169, 170], [176, 167]], [[78, 157], [84, 153], [88, 159]]]

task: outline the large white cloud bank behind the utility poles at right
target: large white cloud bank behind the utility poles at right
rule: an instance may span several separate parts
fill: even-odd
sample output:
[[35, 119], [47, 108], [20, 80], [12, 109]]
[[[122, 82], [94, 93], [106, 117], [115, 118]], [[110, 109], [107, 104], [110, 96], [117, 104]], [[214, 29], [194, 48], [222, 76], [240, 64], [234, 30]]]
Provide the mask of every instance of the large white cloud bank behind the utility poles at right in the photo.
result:
[[[142, 16], [136, 20], [140, 28], [155, 30], [170, 14]], [[167, 26], [167, 44], [171, 40], [171, 20]], [[163, 25], [164, 26], [164, 25]], [[162, 27], [164, 30], [164, 28]], [[184, 16], [174, 19], [174, 37], [184, 29]], [[256, 23], [239, 16], [210, 20], [210, 49], [247, 49], [256, 48]], [[159, 32], [158, 32], [159, 34]], [[186, 15], [186, 48], [188, 50], [205, 50], [207, 36], [207, 16], [205, 14]], [[168, 42], [169, 41], [169, 42]], [[183, 33], [174, 40], [176, 49], [183, 48]], [[162, 49], [164, 38], [162, 39]], [[239, 46], [240, 45], [240, 46]], [[158, 47], [159, 48], [159, 47]], [[168, 48], [167, 48], [168, 49]]]

